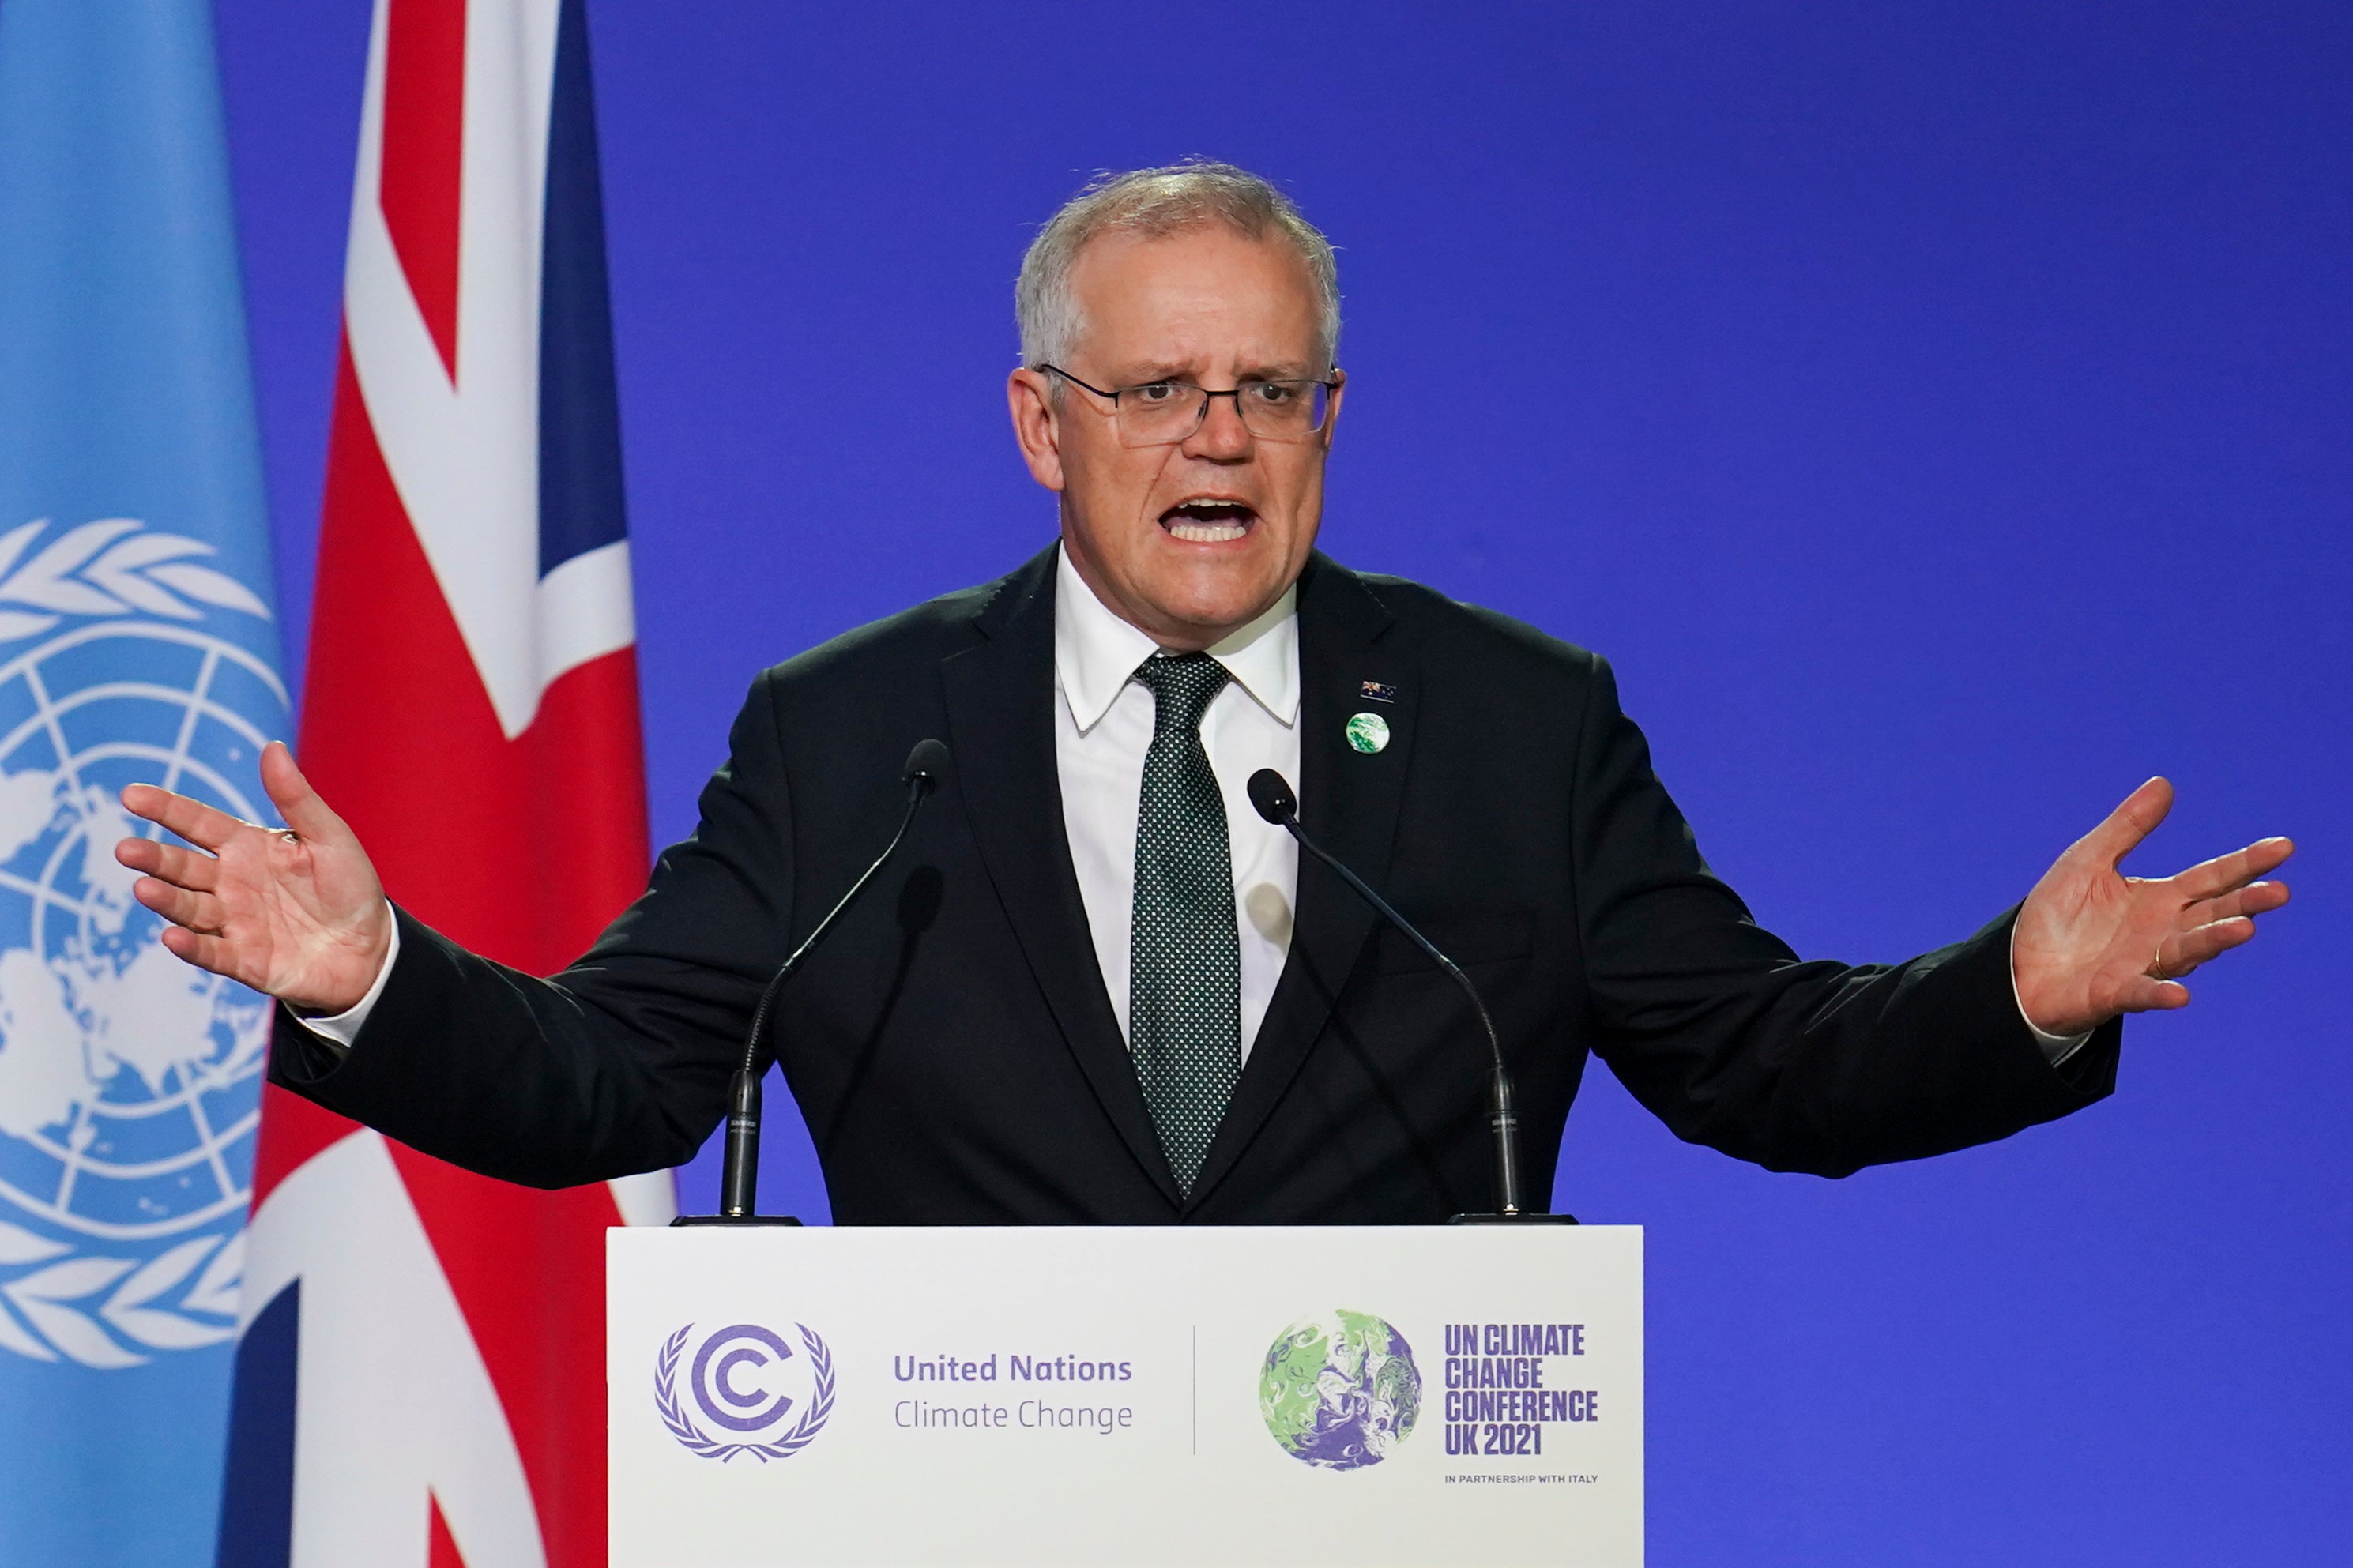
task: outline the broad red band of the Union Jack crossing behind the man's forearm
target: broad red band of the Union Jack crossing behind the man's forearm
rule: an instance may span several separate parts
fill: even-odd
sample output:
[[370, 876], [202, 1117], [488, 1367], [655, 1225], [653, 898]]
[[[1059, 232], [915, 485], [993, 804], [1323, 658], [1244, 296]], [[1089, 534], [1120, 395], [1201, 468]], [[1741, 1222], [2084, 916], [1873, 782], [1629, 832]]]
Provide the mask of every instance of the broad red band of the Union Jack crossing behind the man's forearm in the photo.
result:
[[[348, 348], [334, 407], [301, 766], [405, 910], [475, 952], [555, 971], [645, 886], [635, 654], [551, 684], [508, 741]], [[548, 1568], [598, 1568], [612, 1192], [532, 1192], [391, 1147], [506, 1410]]]

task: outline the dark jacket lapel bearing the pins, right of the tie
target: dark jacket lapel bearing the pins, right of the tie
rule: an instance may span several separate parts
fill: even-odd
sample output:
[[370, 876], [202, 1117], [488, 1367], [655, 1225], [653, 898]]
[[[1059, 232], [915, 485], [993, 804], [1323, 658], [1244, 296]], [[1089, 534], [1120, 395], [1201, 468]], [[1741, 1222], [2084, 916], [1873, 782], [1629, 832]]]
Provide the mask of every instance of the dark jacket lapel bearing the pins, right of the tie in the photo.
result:
[[[1384, 642], [1388, 625], [1388, 609], [1353, 571], [1320, 552], [1308, 562], [1299, 578], [1299, 825], [1372, 886], [1388, 877], [1421, 696], [1405, 649]], [[1365, 682], [1393, 686], [1393, 701], [1367, 701]], [[1358, 712], [1388, 722], [1388, 745], [1379, 752], [1348, 743], [1348, 717]], [[1299, 856], [1292, 952], [1188, 1208], [1209, 1197], [1266, 1126], [1332, 1016], [1374, 919], [1348, 884]]]

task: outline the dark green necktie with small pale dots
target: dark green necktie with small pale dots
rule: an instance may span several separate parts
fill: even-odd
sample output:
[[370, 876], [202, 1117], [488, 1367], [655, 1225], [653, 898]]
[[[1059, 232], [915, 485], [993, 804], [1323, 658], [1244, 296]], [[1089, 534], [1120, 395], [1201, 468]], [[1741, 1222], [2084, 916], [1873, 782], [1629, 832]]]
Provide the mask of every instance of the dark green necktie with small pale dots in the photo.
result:
[[1127, 1048], [1144, 1107], [1193, 1192], [1242, 1077], [1242, 938], [1233, 922], [1226, 797], [1200, 743], [1200, 715], [1226, 686], [1207, 654], [1136, 668], [1158, 715], [1136, 809], [1136, 919], [1127, 938]]

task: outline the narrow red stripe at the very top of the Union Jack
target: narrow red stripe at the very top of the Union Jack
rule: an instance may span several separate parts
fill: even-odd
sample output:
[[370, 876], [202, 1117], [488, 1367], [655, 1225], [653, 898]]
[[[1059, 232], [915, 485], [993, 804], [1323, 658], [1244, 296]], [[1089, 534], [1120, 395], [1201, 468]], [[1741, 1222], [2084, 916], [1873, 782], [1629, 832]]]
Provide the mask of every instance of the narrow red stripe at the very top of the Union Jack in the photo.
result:
[[456, 381], [456, 237], [466, 167], [466, 0], [391, 0], [376, 205], [409, 294]]

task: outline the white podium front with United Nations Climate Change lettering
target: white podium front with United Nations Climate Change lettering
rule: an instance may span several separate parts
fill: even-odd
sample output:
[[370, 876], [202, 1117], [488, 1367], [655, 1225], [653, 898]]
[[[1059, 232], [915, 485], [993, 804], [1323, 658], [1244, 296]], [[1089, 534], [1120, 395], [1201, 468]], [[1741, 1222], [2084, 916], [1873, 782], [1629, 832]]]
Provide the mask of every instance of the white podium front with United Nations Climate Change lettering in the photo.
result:
[[1642, 1232], [614, 1229], [612, 1568], [1640, 1563]]

